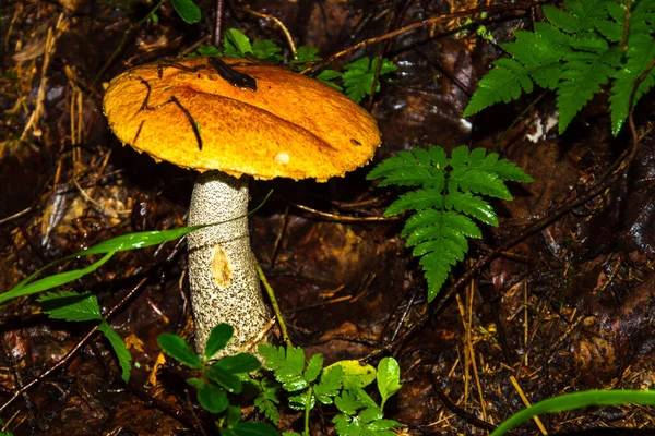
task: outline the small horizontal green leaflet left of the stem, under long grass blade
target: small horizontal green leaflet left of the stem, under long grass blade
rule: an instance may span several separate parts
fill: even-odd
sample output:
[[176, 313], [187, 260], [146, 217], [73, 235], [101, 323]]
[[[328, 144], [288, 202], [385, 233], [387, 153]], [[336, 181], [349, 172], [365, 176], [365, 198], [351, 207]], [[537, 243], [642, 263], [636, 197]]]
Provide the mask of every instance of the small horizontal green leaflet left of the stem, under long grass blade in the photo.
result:
[[71, 291], [48, 292], [37, 300], [41, 311], [53, 319], [102, 320], [98, 300], [91, 293]]

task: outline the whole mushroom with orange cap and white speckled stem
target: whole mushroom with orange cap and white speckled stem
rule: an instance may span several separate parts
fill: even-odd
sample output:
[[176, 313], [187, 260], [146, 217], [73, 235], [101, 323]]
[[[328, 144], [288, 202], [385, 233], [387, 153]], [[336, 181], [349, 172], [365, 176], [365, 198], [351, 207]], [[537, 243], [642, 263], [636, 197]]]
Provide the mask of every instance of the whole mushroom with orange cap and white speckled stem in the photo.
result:
[[285, 177], [324, 182], [368, 162], [380, 145], [374, 119], [330, 86], [242, 59], [162, 60], [115, 77], [104, 111], [116, 136], [156, 160], [200, 171], [189, 225], [195, 348], [228, 323], [226, 353], [269, 320], [248, 235], [248, 182]]

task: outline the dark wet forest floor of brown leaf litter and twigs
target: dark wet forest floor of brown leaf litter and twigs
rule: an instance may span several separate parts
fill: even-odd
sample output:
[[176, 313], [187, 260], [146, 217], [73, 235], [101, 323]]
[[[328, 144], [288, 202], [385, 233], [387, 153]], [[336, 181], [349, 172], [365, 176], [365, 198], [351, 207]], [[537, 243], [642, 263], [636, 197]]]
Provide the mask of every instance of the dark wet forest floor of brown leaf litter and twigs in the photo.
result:
[[[252, 204], [275, 190], [251, 218], [252, 245], [291, 339], [323, 353], [326, 363], [368, 356], [377, 364], [393, 354], [404, 386], [386, 411], [405, 425], [403, 434], [483, 435], [524, 407], [522, 395], [534, 403], [655, 383], [654, 100], [644, 98], [635, 110], [638, 145], [627, 129], [611, 135], [603, 96], [561, 137], [547, 129], [555, 114], [548, 95], [507, 131], [538, 92], [463, 120], [479, 77], [502, 55], [499, 44], [539, 16], [532, 3], [491, 3], [484, 24], [493, 41], [479, 38], [476, 25], [464, 26], [467, 17], [476, 20], [468, 14], [334, 63], [384, 53], [398, 65], [381, 93], [364, 102], [383, 135], [377, 161], [428, 144], [448, 150], [466, 144], [500, 153], [535, 180], [512, 185], [515, 201], [496, 205], [500, 226], [472, 243], [469, 261], [441, 292], [450, 298], [427, 304], [400, 221], [352, 219], [381, 217], [395, 193], [365, 180], [371, 167], [324, 184], [252, 186]], [[107, 128], [102, 97], [103, 84], [129, 66], [211, 44], [215, 4], [199, 4], [203, 19], [189, 25], [168, 2], [153, 23], [142, 21], [153, 7], [146, 1], [0, 0], [0, 291], [105, 239], [184, 225], [195, 174], [122, 147]], [[487, 3], [227, 1], [225, 28], [286, 50], [279, 28], [247, 5], [279, 19], [298, 46], [317, 46], [329, 57]], [[618, 161], [626, 149], [634, 156]], [[476, 266], [478, 259], [486, 262]], [[8, 428], [17, 435], [194, 435], [211, 428], [183, 382], [188, 374], [170, 361], [159, 366], [156, 337], [193, 331], [184, 271], [183, 244], [168, 243], [121, 253], [67, 288], [94, 292], [105, 311], [119, 305], [110, 323], [139, 365], [129, 385], [96, 334], [66, 365], [10, 401], [74, 349], [90, 325], [50, 320], [33, 298], [2, 307], [0, 417]], [[282, 429], [300, 421], [286, 411]], [[655, 411], [586, 409], [541, 422], [551, 435], [645, 435], [653, 434]], [[626, 427], [641, 431], [611, 431]], [[312, 434], [331, 432], [331, 416], [315, 414]], [[514, 434], [539, 431], [531, 422]]]

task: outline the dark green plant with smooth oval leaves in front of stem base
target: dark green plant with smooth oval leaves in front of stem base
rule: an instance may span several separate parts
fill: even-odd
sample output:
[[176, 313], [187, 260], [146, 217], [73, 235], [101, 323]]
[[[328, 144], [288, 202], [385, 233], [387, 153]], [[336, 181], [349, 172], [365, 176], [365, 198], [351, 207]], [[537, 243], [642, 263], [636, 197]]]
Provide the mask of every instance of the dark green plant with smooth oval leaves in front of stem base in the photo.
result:
[[[187, 379], [196, 389], [200, 405], [216, 416], [221, 436], [276, 436], [277, 431], [260, 422], [239, 422], [241, 408], [234, 400], [249, 383], [248, 373], [261, 367], [260, 361], [250, 353], [239, 353], [214, 359], [230, 341], [234, 329], [219, 324], [210, 334], [202, 356], [177, 335], [163, 334], [157, 343], [164, 352], [181, 364], [198, 371], [198, 377]], [[231, 401], [230, 401], [231, 400]]]

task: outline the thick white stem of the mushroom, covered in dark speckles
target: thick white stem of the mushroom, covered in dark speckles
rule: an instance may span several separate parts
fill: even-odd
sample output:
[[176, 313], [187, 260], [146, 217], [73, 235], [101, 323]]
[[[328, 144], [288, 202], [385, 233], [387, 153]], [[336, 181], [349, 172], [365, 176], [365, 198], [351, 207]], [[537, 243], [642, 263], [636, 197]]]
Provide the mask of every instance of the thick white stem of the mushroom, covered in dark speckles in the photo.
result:
[[199, 353], [218, 323], [235, 328], [222, 354], [233, 354], [250, 343], [266, 325], [267, 311], [250, 250], [247, 213], [247, 177], [236, 179], [218, 171], [198, 177], [189, 225], [224, 222], [189, 234], [189, 281]]

